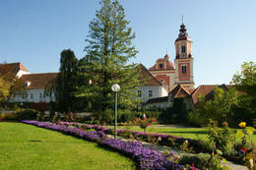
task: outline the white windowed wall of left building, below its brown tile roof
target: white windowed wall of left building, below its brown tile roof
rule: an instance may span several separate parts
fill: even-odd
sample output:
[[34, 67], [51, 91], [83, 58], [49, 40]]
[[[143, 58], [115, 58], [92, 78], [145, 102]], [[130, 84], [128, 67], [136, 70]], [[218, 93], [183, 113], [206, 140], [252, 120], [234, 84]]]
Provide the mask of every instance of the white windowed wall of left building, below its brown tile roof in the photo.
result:
[[[27, 96], [27, 97], [26, 97]], [[54, 96], [45, 96], [44, 89], [26, 89], [22, 95], [14, 96], [12, 102], [50, 102], [54, 101]]]

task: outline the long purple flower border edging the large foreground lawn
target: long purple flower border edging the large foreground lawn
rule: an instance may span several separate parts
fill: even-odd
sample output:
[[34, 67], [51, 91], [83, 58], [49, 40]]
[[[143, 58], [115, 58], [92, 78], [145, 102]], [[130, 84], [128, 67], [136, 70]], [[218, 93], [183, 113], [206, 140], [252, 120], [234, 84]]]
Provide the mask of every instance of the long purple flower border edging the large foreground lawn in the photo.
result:
[[[144, 147], [141, 142], [123, 142], [120, 140], [110, 140], [107, 139], [104, 132], [109, 131], [107, 128], [97, 126], [97, 130], [93, 132], [85, 132], [78, 128], [70, 128], [68, 126], [43, 123], [38, 121], [22, 121], [23, 123], [34, 125], [41, 128], [46, 128], [54, 131], [61, 132], [66, 135], [74, 136], [80, 139], [84, 139], [91, 142], [97, 142], [99, 145], [104, 147], [117, 150], [129, 157], [139, 164], [140, 169], [184, 169], [184, 165], [178, 165], [167, 159], [162, 153], [157, 150]], [[68, 124], [67, 124], [68, 125]], [[90, 128], [91, 126], [88, 126]], [[93, 129], [91, 127], [90, 129]], [[189, 169], [196, 169], [188, 167]]]

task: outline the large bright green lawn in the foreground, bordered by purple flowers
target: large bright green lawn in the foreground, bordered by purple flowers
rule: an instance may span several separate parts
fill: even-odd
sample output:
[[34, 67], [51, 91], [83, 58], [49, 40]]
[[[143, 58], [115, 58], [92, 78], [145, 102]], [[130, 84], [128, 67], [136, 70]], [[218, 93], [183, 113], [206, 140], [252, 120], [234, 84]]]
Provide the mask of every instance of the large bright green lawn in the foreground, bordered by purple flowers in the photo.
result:
[[0, 170], [135, 169], [134, 162], [101, 147], [22, 123], [0, 123]]

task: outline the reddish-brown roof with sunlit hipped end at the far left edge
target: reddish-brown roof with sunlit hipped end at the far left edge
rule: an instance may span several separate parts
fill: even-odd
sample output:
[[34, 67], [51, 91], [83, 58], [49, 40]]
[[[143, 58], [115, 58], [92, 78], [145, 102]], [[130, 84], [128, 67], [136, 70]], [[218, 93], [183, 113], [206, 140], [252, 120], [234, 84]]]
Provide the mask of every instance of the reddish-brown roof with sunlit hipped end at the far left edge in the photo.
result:
[[5, 75], [7, 73], [17, 75], [20, 70], [29, 72], [22, 63], [0, 64], [0, 74], [2, 75]]

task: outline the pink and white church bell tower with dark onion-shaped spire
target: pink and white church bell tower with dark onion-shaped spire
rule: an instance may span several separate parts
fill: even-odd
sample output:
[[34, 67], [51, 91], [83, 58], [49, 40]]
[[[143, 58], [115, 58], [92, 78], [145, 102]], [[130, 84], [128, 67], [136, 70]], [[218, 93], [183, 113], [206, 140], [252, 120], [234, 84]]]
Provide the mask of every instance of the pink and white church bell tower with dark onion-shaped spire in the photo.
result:
[[183, 24], [179, 28], [178, 38], [175, 40], [175, 84], [194, 87], [193, 57], [191, 54], [192, 39], [188, 36], [187, 29]]

